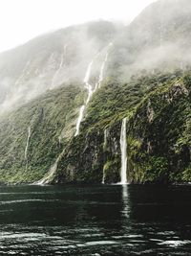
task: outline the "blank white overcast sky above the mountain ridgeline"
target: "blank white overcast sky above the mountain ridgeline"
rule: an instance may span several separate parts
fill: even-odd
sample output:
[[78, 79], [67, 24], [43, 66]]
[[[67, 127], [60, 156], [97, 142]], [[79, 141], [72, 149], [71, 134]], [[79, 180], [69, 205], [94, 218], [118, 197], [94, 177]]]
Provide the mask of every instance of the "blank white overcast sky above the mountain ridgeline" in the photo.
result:
[[131, 21], [155, 0], [0, 0], [0, 52], [36, 35], [95, 19]]

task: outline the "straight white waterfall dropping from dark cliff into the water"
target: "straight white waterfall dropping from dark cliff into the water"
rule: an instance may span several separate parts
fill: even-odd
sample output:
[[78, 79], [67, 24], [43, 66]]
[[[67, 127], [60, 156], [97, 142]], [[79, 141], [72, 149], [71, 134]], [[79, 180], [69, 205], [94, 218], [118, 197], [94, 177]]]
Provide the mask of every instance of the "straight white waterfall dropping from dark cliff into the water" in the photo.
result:
[[120, 184], [127, 183], [127, 141], [126, 141], [126, 123], [127, 118], [122, 120], [120, 131], [120, 151], [121, 151], [121, 173]]

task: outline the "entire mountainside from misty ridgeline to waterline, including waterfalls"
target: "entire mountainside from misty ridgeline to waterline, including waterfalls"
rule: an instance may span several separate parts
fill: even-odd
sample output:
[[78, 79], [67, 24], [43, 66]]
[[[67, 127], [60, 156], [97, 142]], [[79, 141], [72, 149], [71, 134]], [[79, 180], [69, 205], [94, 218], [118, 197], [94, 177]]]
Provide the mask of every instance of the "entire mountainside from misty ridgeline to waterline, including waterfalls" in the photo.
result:
[[2, 183], [191, 181], [188, 0], [0, 55]]

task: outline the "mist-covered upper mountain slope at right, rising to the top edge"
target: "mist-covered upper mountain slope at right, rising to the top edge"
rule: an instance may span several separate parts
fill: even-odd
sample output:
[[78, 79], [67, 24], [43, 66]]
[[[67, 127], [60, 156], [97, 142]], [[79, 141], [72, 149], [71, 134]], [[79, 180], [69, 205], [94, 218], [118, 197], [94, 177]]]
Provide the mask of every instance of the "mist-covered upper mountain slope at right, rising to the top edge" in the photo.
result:
[[111, 70], [122, 80], [141, 70], [190, 66], [191, 2], [160, 0], [148, 6], [115, 41]]

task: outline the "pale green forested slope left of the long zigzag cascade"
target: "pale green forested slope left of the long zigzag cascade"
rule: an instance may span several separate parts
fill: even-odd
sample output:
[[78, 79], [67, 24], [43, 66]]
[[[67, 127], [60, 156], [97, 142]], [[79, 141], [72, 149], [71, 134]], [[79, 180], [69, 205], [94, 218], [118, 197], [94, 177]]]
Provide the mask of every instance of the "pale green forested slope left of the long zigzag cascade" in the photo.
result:
[[[83, 93], [77, 86], [70, 85], [50, 91], [2, 117], [0, 181], [29, 183], [47, 174], [74, 134], [76, 108], [82, 102]], [[29, 127], [31, 137], [25, 157]]]

